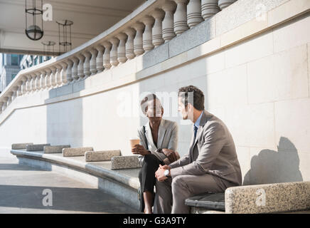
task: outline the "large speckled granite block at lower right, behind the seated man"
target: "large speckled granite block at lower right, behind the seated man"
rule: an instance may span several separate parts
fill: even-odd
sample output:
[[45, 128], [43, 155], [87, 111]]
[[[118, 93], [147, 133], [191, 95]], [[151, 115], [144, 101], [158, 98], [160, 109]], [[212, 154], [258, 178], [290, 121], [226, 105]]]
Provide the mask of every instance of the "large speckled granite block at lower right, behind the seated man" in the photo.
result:
[[310, 208], [310, 182], [229, 187], [225, 191], [227, 214], [294, 212]]

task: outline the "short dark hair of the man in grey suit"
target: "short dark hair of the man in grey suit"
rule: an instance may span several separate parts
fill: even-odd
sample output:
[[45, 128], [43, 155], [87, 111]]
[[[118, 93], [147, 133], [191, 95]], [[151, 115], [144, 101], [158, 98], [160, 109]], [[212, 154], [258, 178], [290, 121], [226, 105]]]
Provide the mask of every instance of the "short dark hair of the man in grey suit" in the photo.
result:
[[196, 86], [184, 86], [178, 89], [178, 97], [182, 98], [185, 107], [191, 103], [197, 110], [205, 109], [205, 96]]

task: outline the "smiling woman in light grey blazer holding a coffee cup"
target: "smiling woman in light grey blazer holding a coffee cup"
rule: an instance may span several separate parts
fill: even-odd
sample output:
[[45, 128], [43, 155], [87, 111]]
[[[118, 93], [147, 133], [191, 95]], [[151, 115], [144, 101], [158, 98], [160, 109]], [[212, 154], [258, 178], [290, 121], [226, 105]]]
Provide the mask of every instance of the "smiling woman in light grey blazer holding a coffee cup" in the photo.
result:
[[178, 152], [174, 152], [178, 144], [178, 125], [162, 118], [164, 108], [154, 94], [141, 100], [141, 109], [149, 118], [149, 122], [139, 128], [140, 144], [135, 145], [132, 152], [139, 155], [141, 164], [140, 210], [148, 214], [152, 212], [151, 207], [154, 204], [156, 170], [159, 165], [168, 165], [179, 158]]

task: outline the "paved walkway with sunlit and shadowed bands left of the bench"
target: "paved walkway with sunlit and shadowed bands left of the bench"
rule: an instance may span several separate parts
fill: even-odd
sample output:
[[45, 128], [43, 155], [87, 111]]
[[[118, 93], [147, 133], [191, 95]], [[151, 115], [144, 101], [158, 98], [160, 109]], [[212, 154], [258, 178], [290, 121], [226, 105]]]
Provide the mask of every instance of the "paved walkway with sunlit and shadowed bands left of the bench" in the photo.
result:
[[[52, 206], [43, 206], [51, 190]], [[118, 199], [53, 171], [19, 165], [0, 149], [0, 213], [139, 213]]]

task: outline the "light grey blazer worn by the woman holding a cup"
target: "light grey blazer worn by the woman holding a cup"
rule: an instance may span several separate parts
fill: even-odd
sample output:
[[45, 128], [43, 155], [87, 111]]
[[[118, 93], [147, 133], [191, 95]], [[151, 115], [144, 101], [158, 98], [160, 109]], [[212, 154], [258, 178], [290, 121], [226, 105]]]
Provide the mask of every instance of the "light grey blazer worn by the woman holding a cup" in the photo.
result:
[[[171, 120], [161, 119], [161, 123], [159, 125], [159, 137], [157, 139], [157, 147], [154, 145], [153, 137], [151, 135], [151, 127], [149, 126], [149, 121], [145, 126], [145, 136], [143, 126], [138, 130], [138, 138], [140, 139], [140, 145], [143, 145], [146, 148], [146, 140], [149, 146], [149, 151], [152, 154], [156, 155], [159, 160], [164, 160], [166, 155], [163, 153], [157, 152], [158, 149], [167, 148], [173, 151], [176, 151], [176, 147], [178, 146], [178, 124]], [[145, 139], [146, 138], [146, 139]], [[138, 156], [140, 165], [143, 164], [144, 155]]]

